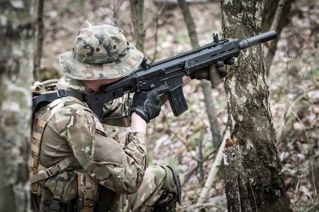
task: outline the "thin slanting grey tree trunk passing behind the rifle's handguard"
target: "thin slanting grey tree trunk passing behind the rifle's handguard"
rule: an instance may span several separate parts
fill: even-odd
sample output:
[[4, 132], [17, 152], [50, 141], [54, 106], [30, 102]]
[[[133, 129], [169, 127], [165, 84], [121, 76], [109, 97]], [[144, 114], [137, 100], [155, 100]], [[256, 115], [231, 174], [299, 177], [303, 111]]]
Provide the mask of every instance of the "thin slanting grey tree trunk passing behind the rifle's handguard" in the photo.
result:
[[[188, 29], [188, 34], [190, 38], [190, 42], [192, 44], [192, 47], [198, 48], [198, 38], [197, 38], [197, 32], [195, 28], [195, 24], [193, 21], [193, 18], [190, 14], [188, 4], [185, 0], [178, 0], [179, 6], [182, 10], [182, 14], [184, 17], [185, 24]], [[214, 99], [211, 94], [211, 83], [208, 80], [203, 80], [201, 82], [201, 86], [203, 88], [204, 92], [204, 101], [205, 106], [208, 114], [208, 120], [211, 125], [211, 134], [213, 139], [214, 147], [218, 147], [219, 141], [220, 141], [220, 130], [219, 130], [219, 124], [217, 121], [217, 114], [214, 106]]]

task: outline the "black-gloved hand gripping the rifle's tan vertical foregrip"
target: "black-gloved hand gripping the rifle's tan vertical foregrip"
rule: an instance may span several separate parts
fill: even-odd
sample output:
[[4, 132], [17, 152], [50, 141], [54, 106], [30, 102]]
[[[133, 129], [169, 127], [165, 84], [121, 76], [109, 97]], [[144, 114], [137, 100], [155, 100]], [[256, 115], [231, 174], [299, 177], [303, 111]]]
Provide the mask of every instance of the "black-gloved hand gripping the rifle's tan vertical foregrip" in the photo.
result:
[[[219, 72], [219, 77], [222, 79], [228, 74], [228, 71], [224, 69], [224, 65], [233, 65], [234, 64], [234, 58], [227, 59], [225, 61], [217, 61], [217, 71]], [[205, 67], [203, 69], [200, 69], [198, 71], [192, 72], [190, 75], [191, 79], [207, 79], [210, 80], [209, 77], [209, 67]]]

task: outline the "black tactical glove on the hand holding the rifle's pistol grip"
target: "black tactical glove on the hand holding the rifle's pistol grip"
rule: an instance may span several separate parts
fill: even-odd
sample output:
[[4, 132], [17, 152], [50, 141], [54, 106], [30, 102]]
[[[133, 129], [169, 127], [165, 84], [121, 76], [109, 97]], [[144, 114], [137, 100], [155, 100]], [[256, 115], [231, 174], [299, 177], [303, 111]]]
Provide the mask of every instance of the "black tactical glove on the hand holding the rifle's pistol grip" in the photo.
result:
[[131, 114], [136, 112], [142, 119], [149, 123], [159, 115], [159, 95], [155, 90], [149, 92], [135, 92], [133, 96]]

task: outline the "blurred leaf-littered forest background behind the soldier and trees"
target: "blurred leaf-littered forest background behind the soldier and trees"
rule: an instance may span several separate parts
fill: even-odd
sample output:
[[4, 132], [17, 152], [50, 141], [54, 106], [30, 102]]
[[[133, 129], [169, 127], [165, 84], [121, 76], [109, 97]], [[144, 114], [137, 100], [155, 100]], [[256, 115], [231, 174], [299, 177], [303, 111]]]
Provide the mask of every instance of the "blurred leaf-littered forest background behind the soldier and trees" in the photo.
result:
[[[63, 76], [59, 57], [71, 50], [78, 31], [89, 24], [117, 26], [123, 29], [129, 42], [137, 46], [128, 0], [39, 0], [38, 6], [39, 2], [44, 2], [44, 9], [43, 29], [38, 25], [34, 36], [35, 68], [40, 70], [40, 75], [35, 75], [37, 81]], [[268, 78], [271, 113], [293, 210], [319, 211], [319, 2], [286, 2], [290, 4], [290, 10], [284, 11], [288, 19], [278, 39], [273, 60], [271, 64], [266, 63], [266, 66], [271, 65]], [[212, 33], [218, 33], [222, 38], [220, 1], [189, 3], [189, 10], [200, 45], [212, 42]], [[145, 58], [149, 62], [193, 49], [177, 1], [145, 1], [143, 19]], [[42, 35], [38, 35], [39, 29]], [[42, 53], [37, 56], [38, 41], [42, 39]], [[265, 44], [265, 49], [267, 46], [269, 44]], [[186, 86], [184, 95], [188, 111], [174, 117], [166, 103], [159, 117], [148, 124], [148, 165], [169, 164], [178, 170], [183, 185], [183, 203], [177, 210], [193, 211], [218, 143], [214, 145], [212, 139], [200, 81], [193, 80]], [[212, 96], [218, 133], [222, 138], [228, 120], [223, 83], [212, 89]], [[127, 131], [127, 128], [116, 128], [121, 142]], [[227, 210], [223, 166], [214, 179], [207, 203], [201, 206], [204, 211]]]

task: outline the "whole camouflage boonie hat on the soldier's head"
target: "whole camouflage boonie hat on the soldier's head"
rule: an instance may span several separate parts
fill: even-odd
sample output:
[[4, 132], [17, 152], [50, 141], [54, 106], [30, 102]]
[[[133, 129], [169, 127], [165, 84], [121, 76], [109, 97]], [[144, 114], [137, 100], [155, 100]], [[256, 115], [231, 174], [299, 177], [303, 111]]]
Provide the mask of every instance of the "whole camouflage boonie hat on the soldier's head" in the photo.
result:
[[60, 57], [60, 66], [73, 79], [114, 79], [130, 74], [143, 60], [123, 32], [107, 24], [82, 29], [72, 51]]

